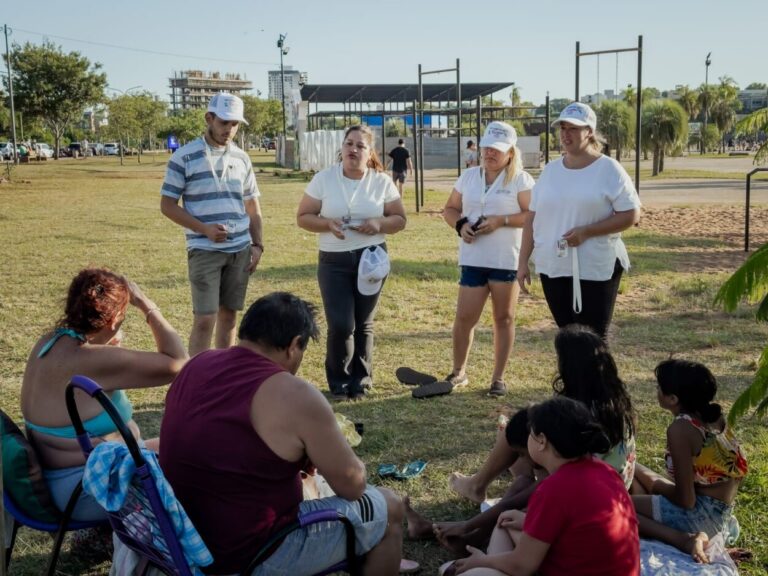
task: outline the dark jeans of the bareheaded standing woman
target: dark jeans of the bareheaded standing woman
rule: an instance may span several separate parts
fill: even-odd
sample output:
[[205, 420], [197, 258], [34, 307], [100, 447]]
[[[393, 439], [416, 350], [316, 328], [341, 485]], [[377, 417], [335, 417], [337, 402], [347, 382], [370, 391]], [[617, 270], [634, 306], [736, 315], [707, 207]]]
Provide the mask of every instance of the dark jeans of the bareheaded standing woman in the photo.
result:
[[[386, 244], [381, 247], [387, 249]], [[317, 281], [328, 324], [325, 377], [333, 394], [361, 394], [372, 385], [373, 318], [381, 291], [363, 296], [357, 290], [364, 250], [321, 251], [318, 259]]]

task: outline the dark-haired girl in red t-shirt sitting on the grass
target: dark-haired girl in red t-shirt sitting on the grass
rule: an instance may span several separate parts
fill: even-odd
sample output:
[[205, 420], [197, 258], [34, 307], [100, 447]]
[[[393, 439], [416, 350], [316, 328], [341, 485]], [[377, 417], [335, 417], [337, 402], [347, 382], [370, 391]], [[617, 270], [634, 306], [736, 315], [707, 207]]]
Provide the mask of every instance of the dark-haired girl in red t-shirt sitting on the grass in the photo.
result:
[[619, 475], [592, 456], [610, 447], [602, 427], [582, 403], [563, 397], [533, 406], [528, 418], [528, 452], [549, 476], [526, 513], [499, 516], [488, 554], [467, 546], [471, 555], [443, 573], [638, 576], [632, 501]]

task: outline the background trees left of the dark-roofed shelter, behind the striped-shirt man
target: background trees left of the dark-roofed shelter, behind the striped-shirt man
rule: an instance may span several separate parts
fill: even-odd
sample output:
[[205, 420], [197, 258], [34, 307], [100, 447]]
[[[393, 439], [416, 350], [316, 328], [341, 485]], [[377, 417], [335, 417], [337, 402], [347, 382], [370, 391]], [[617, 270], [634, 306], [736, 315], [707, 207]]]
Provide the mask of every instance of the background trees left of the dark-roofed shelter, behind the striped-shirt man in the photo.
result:
[[[7, 56], [4, 56], [7, 57]], [[10, 51], [14, 107], [23, 122], [25, 137], [53, 140], [58, 157], [65, 139], [114, 140], [142, 149], [154, 149], [159, 139], [176, 136], [180, 142], [198, 137], [205, 129], [205, 110], [168, 110], [166, 102], [149, 92], [108, 96], [107, 75], [98, 63], [79, 52], [65, 53], [51, 42], [14, 44]], [[0, 99], [0, 131], [10, 131], [8, 79]], [[113, 89], [114, 90], [114, 89]], [[120, 92], [119, 90], [114, 90]], [[240, 130], [244, 142], [274, 137], [282, 126], [280, 102], [242, 96], [247, 126]], [[95, 122], [95, 133], [81, 127], [90, 109], [103, 122]]]

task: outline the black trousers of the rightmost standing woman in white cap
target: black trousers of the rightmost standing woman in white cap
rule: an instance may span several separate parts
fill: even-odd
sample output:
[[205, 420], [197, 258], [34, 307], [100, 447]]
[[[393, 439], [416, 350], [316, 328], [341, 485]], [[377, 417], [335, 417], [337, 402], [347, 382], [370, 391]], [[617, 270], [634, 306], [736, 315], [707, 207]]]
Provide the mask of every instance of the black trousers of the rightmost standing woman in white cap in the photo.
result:
[[581, 281], [581, 312], [573, 311], [573, 277], [550, 278], [541, 274], [541, 286], [547, 299], [549, 311], [558, 327], [568, 324], [584, 324], [605, 340], [608, 326], [613, 318], [613, 307], [619, 293], [619, 283], [624, 269], [616, 260], [613, 275], [608, 280]]

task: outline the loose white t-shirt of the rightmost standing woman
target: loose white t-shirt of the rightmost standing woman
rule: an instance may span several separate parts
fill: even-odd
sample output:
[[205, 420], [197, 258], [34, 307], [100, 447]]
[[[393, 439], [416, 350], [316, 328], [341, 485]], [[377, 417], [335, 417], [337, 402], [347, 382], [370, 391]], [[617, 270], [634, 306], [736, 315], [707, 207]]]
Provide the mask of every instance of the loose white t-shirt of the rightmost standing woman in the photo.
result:
[[[570, 169], [560, 158], [544, 167], [531, 195], [533, 261], [540, 274], [573, 276], [573, 251], [558, 257], [557, 241], [576, 226], [594, 224], [614, 212], [640, 208], [640, 198], [626, 170], [608, 156], [586, 168]], [[621, 234], [589, 238], [578, 250], [581, 280], [608, 280], [618, 258], [629, 269], [629, 256]]]

